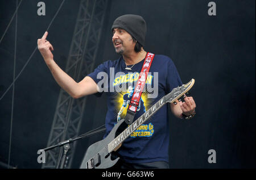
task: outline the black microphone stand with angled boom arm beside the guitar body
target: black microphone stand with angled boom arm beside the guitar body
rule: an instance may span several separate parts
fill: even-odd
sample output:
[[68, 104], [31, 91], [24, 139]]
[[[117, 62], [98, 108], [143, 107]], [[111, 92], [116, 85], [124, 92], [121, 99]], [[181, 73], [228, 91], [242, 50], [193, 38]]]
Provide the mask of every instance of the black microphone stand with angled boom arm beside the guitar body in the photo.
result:
[[[60, 142], [56, 145], [49, 146], [49, 147], [44, 148], [42, 150], [44, 150], [44, 152], [46, 152], [47, 150], [51, 150], [51, 149], [60, 147], [60, 154], [59, 154], [59, 158], [58, 158], [58, 161], [57, 161], [57, 164], [56, 164], [56, 169], [64, 169], [64, 164], [65, 164], [65, 160], [67, 158], [67, 153], [68, 153], [68, 150], [70, 149], [69, 144], [73, 143], [76, 140], [84, 139], [85, 137], [96, 135], [97, 133], [103, 132], [105, 130], [106, 130], [106, 128], [102, 128], [102, 129], [98, 129], [98, 130], [92, 130], [92, 131], [86, 132], [86, 133], [84, 133], [84, 134], [82, 134], [82, 135], [80, 135], [80, 136], [78, 136], [74, 139], [71, 138], [71, 139], [62, 141], [62, 142]], [[63, 154], [63, 148], [64, 148], [64, 154]], [[60, 161], [61, 161], [61, 164], [60, 164]], [[60, 164], [60, 167], [59, 167], [59, 164]]]

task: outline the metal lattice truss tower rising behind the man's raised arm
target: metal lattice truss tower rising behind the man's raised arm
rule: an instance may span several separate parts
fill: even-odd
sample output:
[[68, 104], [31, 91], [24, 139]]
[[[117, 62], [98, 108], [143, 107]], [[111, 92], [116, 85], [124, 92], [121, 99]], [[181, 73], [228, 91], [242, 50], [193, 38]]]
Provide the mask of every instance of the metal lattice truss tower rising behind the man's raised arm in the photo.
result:
[[[81, 0], [65, 69], [65, 72], [76, 82], [81, 81], [93, 70], [107, 3], [107, 0]], [[86, 97], [73, 99], [63, 89], [60, 90], [47, 146], [78, 136], [85, 103]], [[76, 142], [67, 154], [64, 168], [71, 167], [75, 147]], [[55, 168], [59, 152], [59, 148], [46, 152], [46, 163], [42, 168]]]

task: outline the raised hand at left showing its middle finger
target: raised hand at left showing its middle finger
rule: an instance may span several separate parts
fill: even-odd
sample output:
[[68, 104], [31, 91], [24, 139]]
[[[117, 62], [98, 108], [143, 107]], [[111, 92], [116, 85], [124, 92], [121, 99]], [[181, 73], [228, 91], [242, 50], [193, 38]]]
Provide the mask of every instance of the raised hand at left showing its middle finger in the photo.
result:
[[40, 51], [41, 55], [44, 58], [44, 61], [50, 62], [53, 60], [53, 47], [49, 41], [46, 40], [46, 37], [48, 35], [48, 32], [46, 31], [42, 37], [42, 39], [38, 39], [38, 50]]

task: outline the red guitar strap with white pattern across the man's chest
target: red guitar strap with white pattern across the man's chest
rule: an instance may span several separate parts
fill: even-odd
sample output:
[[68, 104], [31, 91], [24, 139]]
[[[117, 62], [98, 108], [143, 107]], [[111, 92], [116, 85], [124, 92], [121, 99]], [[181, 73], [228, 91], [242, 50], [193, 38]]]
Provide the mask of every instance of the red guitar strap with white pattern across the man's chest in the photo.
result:
[[144, 64], [141, 69], [141, 73], [139, 73], [139, 78], [138, 78], [137, 84], [136, 84], [134, 92], [133, 92], [133, 97], [131, 98], [129, 107], [127, 109], [127, 113], [125, 116], [126, 124], [133, 123], [133, 119], [136, 114], [137, 108], [139, 106], [139, 101], [141, 99], [142, 90], [147, 81], [147, 74], [150, 70], [150, 66], [152, 64], [154, 56], [155, 55], [150, 52], [148, 52], [146, 55]]

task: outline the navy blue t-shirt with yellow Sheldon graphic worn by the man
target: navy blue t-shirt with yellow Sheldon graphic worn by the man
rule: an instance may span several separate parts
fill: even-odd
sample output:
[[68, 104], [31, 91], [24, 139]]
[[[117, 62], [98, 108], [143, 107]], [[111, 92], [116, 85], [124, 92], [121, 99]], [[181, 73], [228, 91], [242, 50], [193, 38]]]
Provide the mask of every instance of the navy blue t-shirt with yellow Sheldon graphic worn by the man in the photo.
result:
[[[125, 61], [121, 56], [114, 61], [105, 61], [94, 72], [88, 74], [98, 86], [104, 88], [102, 93], [108, 95], [104, 138], [120, 119], [125, 118], [127, 103], [133, 95], [143, 63], [144, 60], [135, 64], [131, 68], [132, 70], [126, 70]], [[160, 98], [181, 85], [179, 73], [171, 58], [155, 55], [134, 121]], [[168, 106], [165, 104], [149, 120], [131, 133], [118, 151], [123, 160], [130, 163], [168, 162], [170, 133], [168, 111]]]

